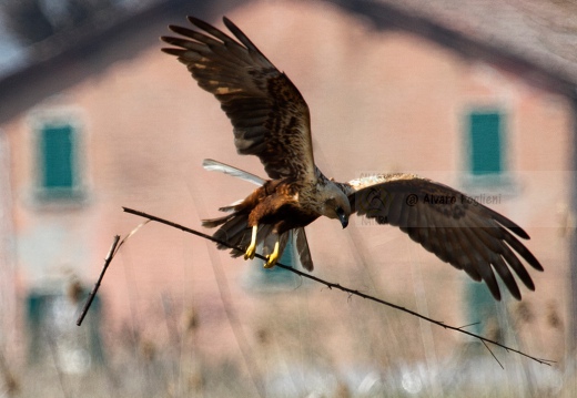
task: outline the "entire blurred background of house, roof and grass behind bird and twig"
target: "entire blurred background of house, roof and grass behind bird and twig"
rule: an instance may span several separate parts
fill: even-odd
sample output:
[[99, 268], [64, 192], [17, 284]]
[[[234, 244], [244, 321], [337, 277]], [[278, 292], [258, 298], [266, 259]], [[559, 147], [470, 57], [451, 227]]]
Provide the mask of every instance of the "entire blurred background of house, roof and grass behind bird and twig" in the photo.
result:
[[[0, 397], [573, 397], [577, 4], [540, 0], [3, 0]], [[306, 99], [315, 160], [405, 171], [522, 225], [545, 267], [495, 303], [389, 226], [307, 227], [314, 275], [553, 366], [149, 224], [193, 228], [253, 186], [219, 103], [160, 51], [169, 23], [232, 19]], [[264, 175], [263, 175], [264, 176]], [[283, 262], [291, 262], [284, 258]], [[294, 264], [294, 266], [298, 266]], [[573, 285], [573, 287], [571, 287]]]

